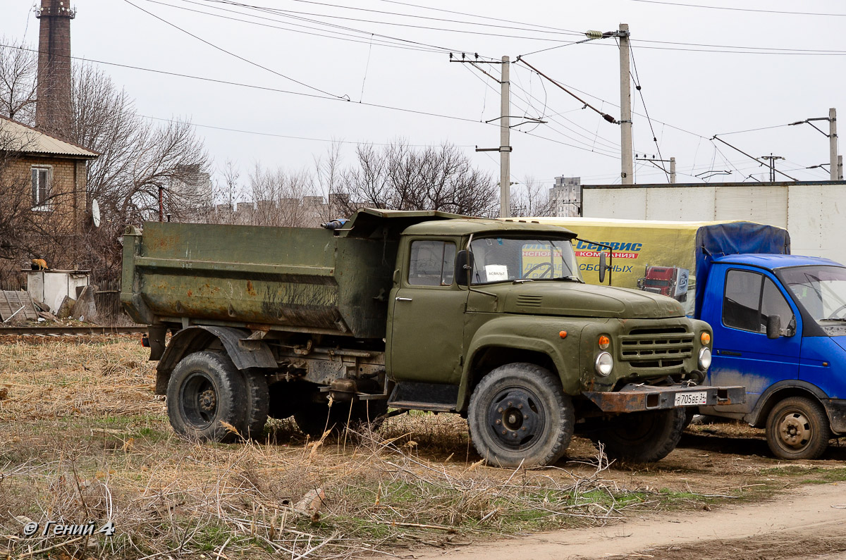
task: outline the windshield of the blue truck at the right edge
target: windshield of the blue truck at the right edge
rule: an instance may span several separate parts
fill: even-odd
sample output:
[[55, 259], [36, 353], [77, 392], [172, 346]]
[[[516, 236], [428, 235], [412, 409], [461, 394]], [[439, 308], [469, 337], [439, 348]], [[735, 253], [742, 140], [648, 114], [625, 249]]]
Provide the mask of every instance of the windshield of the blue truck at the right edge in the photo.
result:
[[780, 272], [796, 301], [816, 321], [846, 321], [846, 268], [796, 266]]

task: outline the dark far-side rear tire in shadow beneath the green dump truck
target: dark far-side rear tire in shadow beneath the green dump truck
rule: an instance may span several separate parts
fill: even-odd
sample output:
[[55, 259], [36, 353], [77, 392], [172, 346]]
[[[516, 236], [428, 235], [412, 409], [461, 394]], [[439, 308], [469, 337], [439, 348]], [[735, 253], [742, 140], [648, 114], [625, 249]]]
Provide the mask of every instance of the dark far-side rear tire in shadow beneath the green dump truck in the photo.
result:
[[348, 425], [353, 430], [369, 425], [371, 430], [376, 431], [382, 425], [382, 415], [386, 412], [386, 400], [336, 402], [332, 407], [327, 403], [308, 402], [294, 413], [294, 422], [299, 431], [312, 439], [320, 439], [326, 431], [338, 436]]

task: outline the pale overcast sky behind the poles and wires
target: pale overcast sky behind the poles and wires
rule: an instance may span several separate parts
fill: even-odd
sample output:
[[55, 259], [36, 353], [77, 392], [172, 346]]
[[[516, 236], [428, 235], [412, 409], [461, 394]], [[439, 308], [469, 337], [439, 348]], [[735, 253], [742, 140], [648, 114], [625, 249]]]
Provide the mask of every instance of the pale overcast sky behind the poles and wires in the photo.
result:
[[[715, 145], [715, 134], [827, 117], [829, 107], [842, 112], [846, 134], [842, 1], [243, 2], [79, 0], [72, 54], [255, 86], [100, 66], [135, 98], [140, 114], [190, 119], [215, 161], [232, 159], [244, 175], [255, 162], [310, 167], [333, 139], [347, 143], [343, 157], [349, 162], [356, 142], [404, 138], [413, 145], [462, 146], [498, 178], [498, 154], [476, 153], [474, 146], [499, 144], [496, 121], [484, 124], [499, 116], [499, 85], [469, 64], [449, 63], [448, 53], [512, 60], [525, 55], [541, 72], [619, 118], [615, 40], [569, 43], [584, 39], [578, 34], [585, 30], [616, 30], [620, 23], [629, 24], [657, 138], [656, 146], [633, 87], [634, 151], [656, 156], [660, 148], [665, 159], [674, 156], [678, 182], [700, 182], [709, 171], [732, 172], [711, 182], [765, 173], [738, 151]], [[34, 4], [2, 5], [0, 36], [35, 46]], [[541, 49], [549, 50], [536, 52]], [[500, 71], [498, 64], [480, 67], [495, 76]], [[579, 176], [583, 184], [619, 183], [619, 126], [583, 110], [523, 64], [512, 64], [511, 73], [512, 114], [548, 121], [514, 128], [512, 180], [533, 177], [551, 185], [564, 175]], [[826, 122], [818, 126], [827, 130]], [[805, 170], [828, 162], [827, 138], [808, 124], [724, 139], [752, 156], [783, 156], [777, 167], [795, 178], [828, 178], [825, 170]], [[635, 176], [638, 183], [667, 182], [661, 170], [642, 162]]]

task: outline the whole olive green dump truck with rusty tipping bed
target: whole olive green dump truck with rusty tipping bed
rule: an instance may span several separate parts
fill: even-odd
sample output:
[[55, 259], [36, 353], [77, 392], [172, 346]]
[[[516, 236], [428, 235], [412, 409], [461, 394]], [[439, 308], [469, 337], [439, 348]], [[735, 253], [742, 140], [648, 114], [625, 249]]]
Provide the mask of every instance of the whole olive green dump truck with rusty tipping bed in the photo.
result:
[[150, 222], [124, 235], [121, 301], [150, 325], [156, 393], [184, 436], [257, 436], [268, 415], [321, 436], [390, 407], [464, 415], [502, 466], [552, 464], [574, 430], [658, 460], [684, 407], [744, 388], [696, 385], [711, 328], [673, 299], [585, 284], [574, 236], [437, 211], [322, 229]]

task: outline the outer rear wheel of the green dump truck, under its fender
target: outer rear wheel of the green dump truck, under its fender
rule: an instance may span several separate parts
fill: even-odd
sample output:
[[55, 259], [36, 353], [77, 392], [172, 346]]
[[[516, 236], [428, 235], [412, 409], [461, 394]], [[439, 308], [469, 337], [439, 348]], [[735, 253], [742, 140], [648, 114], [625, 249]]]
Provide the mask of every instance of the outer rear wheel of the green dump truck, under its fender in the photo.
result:
[[232, 360], [196, 352], [179, 360], [168, 382], [168, 418], [180, 436], [233, 442], [238, 436], [222, 422], [244, 429], [247, 387]]

